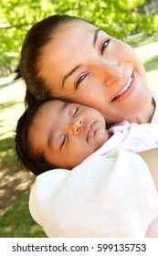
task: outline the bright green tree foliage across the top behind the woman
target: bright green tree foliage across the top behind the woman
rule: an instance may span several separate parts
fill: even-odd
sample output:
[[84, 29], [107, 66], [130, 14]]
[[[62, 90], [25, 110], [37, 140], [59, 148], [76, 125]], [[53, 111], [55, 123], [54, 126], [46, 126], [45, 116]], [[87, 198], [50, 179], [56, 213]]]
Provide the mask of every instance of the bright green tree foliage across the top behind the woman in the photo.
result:
[[[2, 0], [0, 4], [0, 69], [15, 68], [26, 31], [54, 14], [80, 16], [115, 37], [157, 29], [157, 16], [139, 13], [144, 0]], [[141, 10], [141, 9], [140, 9]]]

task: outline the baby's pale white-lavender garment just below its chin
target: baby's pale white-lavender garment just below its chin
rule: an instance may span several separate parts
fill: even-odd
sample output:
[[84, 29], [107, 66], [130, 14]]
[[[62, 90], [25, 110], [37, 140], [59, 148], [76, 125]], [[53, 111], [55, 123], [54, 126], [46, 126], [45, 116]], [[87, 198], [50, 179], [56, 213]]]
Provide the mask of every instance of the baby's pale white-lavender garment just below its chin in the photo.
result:
[[158, 125], [153, 123], [117, 123], [109, 129], [111, 138], [94, 154], [107, 155], [114, 148], [136, 153], [158, 146]]

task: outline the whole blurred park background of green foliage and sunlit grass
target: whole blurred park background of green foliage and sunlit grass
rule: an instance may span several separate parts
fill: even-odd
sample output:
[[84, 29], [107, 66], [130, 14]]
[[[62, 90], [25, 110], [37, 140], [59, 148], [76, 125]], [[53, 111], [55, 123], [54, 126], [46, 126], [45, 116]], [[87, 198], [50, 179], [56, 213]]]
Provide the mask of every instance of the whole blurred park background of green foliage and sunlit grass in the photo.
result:
[[25, 85], [13, 82], [26, 31], [54, 14], [84, 17], [135, 48], [151, 89], [158, 89], [157, 0], [2, 0], [0, 3], [0, 237], [46, 237], [28, 211], [34, 176], [16, 161], [14, 131], [24, 111]]

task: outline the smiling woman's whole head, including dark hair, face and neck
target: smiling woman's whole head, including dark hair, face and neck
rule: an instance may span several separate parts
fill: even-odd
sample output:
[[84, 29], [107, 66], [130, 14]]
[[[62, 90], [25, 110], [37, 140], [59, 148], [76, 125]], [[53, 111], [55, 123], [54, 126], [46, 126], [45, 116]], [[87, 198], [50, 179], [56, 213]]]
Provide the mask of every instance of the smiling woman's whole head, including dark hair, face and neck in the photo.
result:
[[98, 109], [109, 123], [150, 123], [155, 102], [127, 44], [72, 16], [50, 16], [27, 33], [20, 71], [37, 100], [65, 98]]

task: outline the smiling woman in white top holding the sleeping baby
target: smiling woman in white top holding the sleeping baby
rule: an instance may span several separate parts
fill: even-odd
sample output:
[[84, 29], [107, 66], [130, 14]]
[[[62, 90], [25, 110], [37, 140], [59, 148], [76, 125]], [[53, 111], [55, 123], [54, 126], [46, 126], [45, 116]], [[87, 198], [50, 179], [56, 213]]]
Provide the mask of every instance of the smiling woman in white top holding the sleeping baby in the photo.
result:
[[[109, 126], [123, 120], [158, 123], [157, 92], [152, 97], [133, 49], [78, 17], [50, 16], [33, 26], [22, 48], [20, 72], [28, 105], [57, 97], [96, 108]], [[155, 153], [140, 157], [118, 150], [103, 161], [96, 157], [92, 165], [82, 165], [81, 174], [77, 166], [72, 172], [58, 169], [38, 176], [29, 201], [33, 218], [50, 237], [145, 236], [150, 223], [146, 220], [142, 231], [134, 206], [143, 201], [142, 194], [148, 195], [157, 211], [157, 183], [147, 168], [156, 171]], [[113, 210], [107, 212], [112, 200]]]

